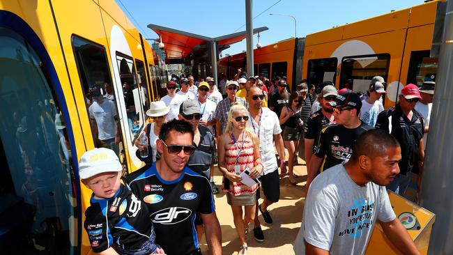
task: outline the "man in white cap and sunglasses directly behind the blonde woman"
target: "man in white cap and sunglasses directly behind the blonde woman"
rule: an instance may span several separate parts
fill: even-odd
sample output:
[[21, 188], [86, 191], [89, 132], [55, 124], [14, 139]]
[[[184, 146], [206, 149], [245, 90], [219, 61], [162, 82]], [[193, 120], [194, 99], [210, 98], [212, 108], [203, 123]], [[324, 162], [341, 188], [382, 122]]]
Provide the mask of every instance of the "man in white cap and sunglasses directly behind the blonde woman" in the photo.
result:
[[227, 85], [225, 85], [227, 91], [227, 98], [224, 98], [222, 101], [220, 101], [217, 104], [217, 108], [215, 108], [214, 119], [216, 121], [215, 124], [216, 137], [220, 137], [225, 132], [225, 129], [227, 128], [228, 112], [235, 102], [243, 104], [247, 108], [247, 102], [245, 102], [243, 98], [236, 96], [238, 86], [239, 86], [238, 82], [228, 81]]

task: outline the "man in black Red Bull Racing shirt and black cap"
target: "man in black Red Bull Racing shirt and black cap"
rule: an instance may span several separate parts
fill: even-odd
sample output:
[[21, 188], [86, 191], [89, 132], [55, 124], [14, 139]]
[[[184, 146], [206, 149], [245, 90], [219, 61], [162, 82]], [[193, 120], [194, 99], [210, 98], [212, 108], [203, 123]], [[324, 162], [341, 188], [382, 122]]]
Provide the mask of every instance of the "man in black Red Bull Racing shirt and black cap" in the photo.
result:
[[336, 123], [321, 130], [318, 145], [307, 174], [307, 192], [316, 173], [341, 164], [351, 158], [357, 137], [373, 127], [362, 123], [358, 117], [362, 102], [359, 95], [346, 91], [337, 95], [335, 101], [329, 102], [334, 109]]

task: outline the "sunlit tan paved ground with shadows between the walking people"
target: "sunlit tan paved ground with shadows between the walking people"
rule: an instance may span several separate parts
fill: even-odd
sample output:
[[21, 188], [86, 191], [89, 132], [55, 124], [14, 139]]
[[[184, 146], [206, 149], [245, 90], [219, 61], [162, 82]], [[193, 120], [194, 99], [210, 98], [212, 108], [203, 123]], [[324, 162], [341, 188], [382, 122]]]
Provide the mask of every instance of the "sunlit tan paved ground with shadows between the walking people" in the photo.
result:
[[[261, 213], [259, 213], [265, 241], [256, 242], [253, 232], [250, 231], [247, 235], [247, 244], [249, 246], [247, 255], [294, 254], [292, 244], [300, 228], [303, 204], [305, 202], [305, 196], [303, 196], [305, 186], [303, 185], [305, 185], [307, 169], [303, 160], [299, 159], [299, 164], [295, 166], [294, 172], [300, 176], [300, 180], [303, 180], [303, 182], [298, 185], [291, 185], [288, 176], [280, 180], [280, 201], [269, 207], [274, 224], [268, 226], [264, 223]], [[217, 168], [215, 169], [215, 174], [215, 183], [217, 187], [220, 187], [222, 176], [220, 176], [220, 171]], [[215, 197], [215, 207], [220, 227], [222, 228], [222, 252], [223, 254], [238, 254], [240, 247], [238, 234], [234, 227], [231, 208], [227, 203], [227, 196], [222, 192]], [[250, 230], [252, 230], [252, 224], [250, 225]], [[201, 242], [201, 250], [204, 254], [208, 254], [205, 240]]]

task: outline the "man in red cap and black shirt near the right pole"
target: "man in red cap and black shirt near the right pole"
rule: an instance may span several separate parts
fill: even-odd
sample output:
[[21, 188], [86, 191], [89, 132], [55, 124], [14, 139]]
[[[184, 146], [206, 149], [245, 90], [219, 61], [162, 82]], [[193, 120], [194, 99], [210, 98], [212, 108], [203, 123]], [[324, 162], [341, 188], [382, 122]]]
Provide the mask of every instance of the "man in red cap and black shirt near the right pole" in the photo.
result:
[[389, 132], [401, 144], [402, 158], [398, 163], [400, 172], [392, 183], [387, 186], [387, 189], [401, 195], [404, 195], [408, 187], [413, 187], [417, 190], [415, 183], [410, 180], [410, 173], [414, 164], [418, 163], [420, 167], [419, 178], [422, 175], [424, 121], [421, 114], [414, 109], [415, 103], [420, 98], [422, 97], [416, 85], [406, 85], [401, 89], [397, 105], [381, 112], [376, 122], [376, 128]]

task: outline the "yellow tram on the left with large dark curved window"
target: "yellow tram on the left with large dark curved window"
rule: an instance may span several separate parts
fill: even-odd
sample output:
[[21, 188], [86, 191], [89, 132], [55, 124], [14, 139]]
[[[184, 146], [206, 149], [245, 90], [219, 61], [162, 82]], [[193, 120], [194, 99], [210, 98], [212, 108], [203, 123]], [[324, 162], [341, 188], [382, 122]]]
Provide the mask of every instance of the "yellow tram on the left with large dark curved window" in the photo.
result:
[[[110, 147], [125, 173], [142, 167], [134, 141], [165, 82], [158, 66], [114, 1], [0, 2], [2, 254], [89, 254], [78, 159]], [[112, 114], [94, 118], [93, 100]]]

